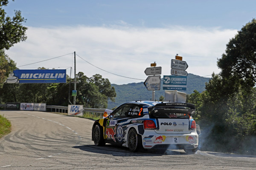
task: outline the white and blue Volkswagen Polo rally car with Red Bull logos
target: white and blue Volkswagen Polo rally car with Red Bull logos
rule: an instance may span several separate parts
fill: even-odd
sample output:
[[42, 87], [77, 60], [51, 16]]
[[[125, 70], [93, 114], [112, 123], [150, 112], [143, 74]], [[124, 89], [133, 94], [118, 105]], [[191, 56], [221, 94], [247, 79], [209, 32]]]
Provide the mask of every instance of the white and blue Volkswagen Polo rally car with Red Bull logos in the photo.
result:
[[94, 122], [92, 140], [96, 146], [106, 143], [151, 150], [183, 149], [195, 153], [201, 130], [192, 115], [195, 105], [133, 101], [120, 105], [106, 118]]

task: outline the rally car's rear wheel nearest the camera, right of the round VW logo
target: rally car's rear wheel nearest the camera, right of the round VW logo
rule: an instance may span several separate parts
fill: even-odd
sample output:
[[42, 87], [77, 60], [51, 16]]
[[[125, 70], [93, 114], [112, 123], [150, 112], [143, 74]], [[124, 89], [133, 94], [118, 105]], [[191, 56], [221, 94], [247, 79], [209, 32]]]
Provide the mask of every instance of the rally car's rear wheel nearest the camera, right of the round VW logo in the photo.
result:
[[127, 143], [128, 143], [129, 150], [131, 152], [137, 152], [140, 148], [142, 148], [141, 135], [138, 135], [137, 131], [134, 128], [129, 130], [129, 133], [127, 136]]

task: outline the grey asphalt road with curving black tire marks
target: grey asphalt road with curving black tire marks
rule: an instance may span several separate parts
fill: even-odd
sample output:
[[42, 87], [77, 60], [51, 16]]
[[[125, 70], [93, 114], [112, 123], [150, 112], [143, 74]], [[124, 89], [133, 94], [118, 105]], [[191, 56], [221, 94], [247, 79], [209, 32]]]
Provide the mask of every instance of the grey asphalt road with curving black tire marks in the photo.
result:
[[0, 170], [255, 170], [256, 156], [167, 150], [131, 153], [94, 146], [92, 120], [48, 112], [0, 111], [12, 133], [0, 139]]

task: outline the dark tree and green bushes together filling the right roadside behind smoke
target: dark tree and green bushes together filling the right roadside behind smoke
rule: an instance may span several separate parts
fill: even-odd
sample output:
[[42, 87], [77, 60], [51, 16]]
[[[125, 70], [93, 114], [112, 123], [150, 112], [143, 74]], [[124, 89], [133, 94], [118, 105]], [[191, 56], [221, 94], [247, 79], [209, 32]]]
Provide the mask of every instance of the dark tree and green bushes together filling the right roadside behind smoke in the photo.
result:
[[201, 94], [187, 100], [197, 107], [201, 150], [255, 154], [256, 20], [247, 23], [218, 59], [221, 75], [212, 74]]

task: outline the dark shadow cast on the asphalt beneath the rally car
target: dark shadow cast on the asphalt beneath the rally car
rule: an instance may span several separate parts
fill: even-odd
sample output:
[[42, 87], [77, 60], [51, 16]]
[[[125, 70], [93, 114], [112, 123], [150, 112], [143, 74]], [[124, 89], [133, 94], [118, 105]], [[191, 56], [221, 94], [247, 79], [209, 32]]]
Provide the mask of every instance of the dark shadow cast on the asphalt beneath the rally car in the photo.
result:
[[187, 155], [186, 153], [182, 153], [179, 151], [167, 150], [163, 153], [163, 151], [155, 151], [155, 150], [139, 150], [137, 153], [132, 153], [126, 147], [115, 146], [111, 144], [107, 144], [103, 147], [97, 147], [95, 145], [82, 145], [76, 146], [73, 148], [77, 148], [87, 152], [100, 153], [100, 154], [108, 154], [112, 156], [162, 156], [162, 155]]

